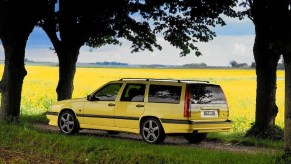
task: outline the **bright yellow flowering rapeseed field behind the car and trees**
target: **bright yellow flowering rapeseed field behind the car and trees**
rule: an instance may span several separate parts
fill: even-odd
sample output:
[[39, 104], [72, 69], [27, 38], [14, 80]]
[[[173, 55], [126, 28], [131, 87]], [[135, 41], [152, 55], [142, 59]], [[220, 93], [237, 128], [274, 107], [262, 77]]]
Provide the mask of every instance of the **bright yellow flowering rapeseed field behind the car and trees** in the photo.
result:
[[[56, 101], [58, 67], [26, 66], [28, 75], [22, 91], [22, 114], [46, 111], [51, 101]], [[0, 65], [3, 72], [3, 65]], [[2, 73], [1, 73], [2, 74]], [[255, 119], [256, 73], [255, 70], [235, 69], [136, 69], [136, 68], [77, 68], [73, 97], [84, 97], [104, 83], [125, 77], [176, 78], [208, 80], [223, 88], [228, 100], [233, 132], [244, 132]], [[276, 123], [284, 121], [284, 71], [277, 72]]]

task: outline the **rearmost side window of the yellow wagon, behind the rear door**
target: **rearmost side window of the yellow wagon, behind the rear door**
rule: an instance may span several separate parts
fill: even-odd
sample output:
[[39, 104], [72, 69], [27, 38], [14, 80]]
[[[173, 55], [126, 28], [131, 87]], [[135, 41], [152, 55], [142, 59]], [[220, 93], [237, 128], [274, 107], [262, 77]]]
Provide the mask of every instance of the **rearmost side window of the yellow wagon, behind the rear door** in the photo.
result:
[[181, 86], [150, 85], [149, 102], [179, 104], [181, 97]]

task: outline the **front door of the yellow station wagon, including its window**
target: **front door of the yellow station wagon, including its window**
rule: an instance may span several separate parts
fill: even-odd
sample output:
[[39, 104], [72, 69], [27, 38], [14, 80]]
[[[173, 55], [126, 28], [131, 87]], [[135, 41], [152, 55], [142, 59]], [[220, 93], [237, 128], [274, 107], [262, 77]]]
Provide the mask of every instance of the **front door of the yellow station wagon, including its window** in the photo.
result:
[[89, 96], [84, 104], [84, 123], [87, 125], [115, 126], [115, 99], [122, 83], [110, 83]]

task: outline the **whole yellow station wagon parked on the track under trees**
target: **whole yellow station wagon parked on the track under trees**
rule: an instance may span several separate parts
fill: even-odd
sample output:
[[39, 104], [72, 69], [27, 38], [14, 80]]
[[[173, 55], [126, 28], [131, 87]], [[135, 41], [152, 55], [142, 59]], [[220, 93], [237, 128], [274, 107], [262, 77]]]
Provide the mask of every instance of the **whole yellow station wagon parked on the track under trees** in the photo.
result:
[[46, 116], [66, 134], [80, 129], [131, 132], [147, 143], [161, 143], [170, 134], [199, 143], [207, 133], [232, 126], [222, 88], [194, 80], [111, 81], [87, 97], [53, 103]]

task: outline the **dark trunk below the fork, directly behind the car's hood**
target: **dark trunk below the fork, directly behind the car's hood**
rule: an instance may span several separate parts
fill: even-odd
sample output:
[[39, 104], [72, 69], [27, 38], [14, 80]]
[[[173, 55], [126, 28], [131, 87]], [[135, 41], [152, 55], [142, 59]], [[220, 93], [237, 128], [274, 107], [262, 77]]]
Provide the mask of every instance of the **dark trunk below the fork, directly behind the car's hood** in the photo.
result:
[[59, 82], [56, 90], [58, 101], [72, 98], [79, 49], [80, 47], [63, 46], [57, 52], [59, 58]]

